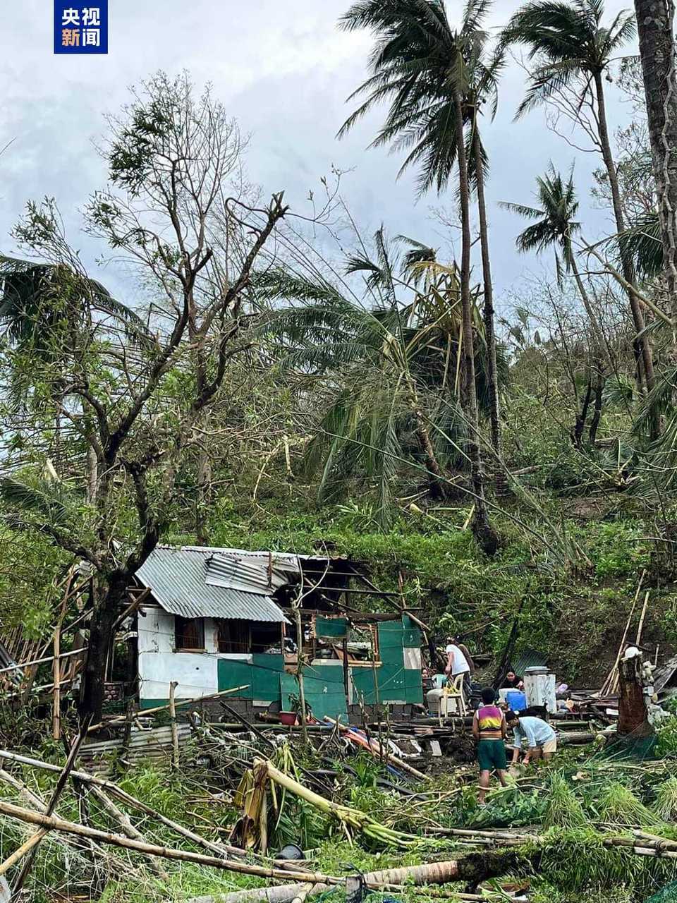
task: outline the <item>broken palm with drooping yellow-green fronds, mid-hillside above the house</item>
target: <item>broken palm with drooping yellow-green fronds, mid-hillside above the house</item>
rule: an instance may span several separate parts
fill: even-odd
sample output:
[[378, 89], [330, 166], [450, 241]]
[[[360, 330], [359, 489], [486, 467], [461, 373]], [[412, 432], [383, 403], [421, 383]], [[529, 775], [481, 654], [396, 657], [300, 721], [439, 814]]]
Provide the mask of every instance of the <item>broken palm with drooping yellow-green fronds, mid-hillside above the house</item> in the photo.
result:
[[[259, 275], [255, 283], [260, 299], [287, 303], [275, 304], [262, 327], [281, 366], [325, 377], [326, 411], [303, 462], [307, 473], [320, 471], [320, 501], [335, 501], [356, 478], [366, 478], [376, 489], [381, 526], [391, 520], [395, 480], [408, 462], [426, 472], [428, 489], [439, 497], [450, 489], [450, 467], [467, 461], [468, 431], [458, 405], [464, 379], [458, 269], [413, 244], [402, 255], [400, 275], [382, 230], [376, 260], [348, 258], [348, 272], [364, 277], [364, 298], [289, 271]], [[413, 300], [400, 302], [400, 290]], [[474, 325], [481, 335], [478, 317]], [[477, 394], [486, 407], [483, 344], [476, 364]], [[504, 379], [504, 358], [498, 365]]]

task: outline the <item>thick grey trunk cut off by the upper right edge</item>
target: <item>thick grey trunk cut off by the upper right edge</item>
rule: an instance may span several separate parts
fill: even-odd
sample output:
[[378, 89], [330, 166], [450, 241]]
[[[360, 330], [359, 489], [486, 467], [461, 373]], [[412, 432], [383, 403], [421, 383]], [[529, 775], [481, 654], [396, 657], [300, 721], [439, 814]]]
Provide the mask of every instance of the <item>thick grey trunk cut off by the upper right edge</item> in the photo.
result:
[[635, 0], [649, 139], [663, 239], [663, 275], [677, 318], [677, 77], [673, 0]]

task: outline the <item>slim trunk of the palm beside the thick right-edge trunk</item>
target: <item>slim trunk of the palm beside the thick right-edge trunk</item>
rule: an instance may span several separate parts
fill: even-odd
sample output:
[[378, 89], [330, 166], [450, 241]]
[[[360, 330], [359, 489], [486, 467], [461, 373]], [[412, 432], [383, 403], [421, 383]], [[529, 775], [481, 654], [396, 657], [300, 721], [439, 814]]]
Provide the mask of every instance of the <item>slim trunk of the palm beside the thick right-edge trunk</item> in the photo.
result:
[[[607, 169], [607, 178], [609, 189], [611, 191], [611, 203], [614, 209], [614, 219], [616, 220], [616, 230], [621, 233], [625, 230], [625, 218], [623, 216], [623, 202], [621, 201], [620, 191], [618, 189], [618, 178], [616, 172], [616, 163], [611, 153], [611, 143], [608, 136], [607, 126], [607, 105], [604, 97], [604, 83], [602, 81], [601, 72], [595, 74], [595, 93], [597, 96], [598, 107], [598, 129], [599, 144], [602, 148], [602, 157], [604, 165]], [[621, 256], [623, 277], [626, 282], [635, 284], [635, 270], [632, 262], [625, 254]], [[635, 358], [641, 359], [642, 369], [644, 370], [644, 384], [647, 392], [651, 392], [654, 388], [654, 360], [651, 350], [651, 342], [645, 334], [645, 315], [634, 293], [627, 292], [627, 300], [630, 303], [630, 311], [632, 312], [633, 322], [635, 324]], [[659, 420], [654, 415], [651, 420], [651, 437], [655, 439], [659, 433]]]

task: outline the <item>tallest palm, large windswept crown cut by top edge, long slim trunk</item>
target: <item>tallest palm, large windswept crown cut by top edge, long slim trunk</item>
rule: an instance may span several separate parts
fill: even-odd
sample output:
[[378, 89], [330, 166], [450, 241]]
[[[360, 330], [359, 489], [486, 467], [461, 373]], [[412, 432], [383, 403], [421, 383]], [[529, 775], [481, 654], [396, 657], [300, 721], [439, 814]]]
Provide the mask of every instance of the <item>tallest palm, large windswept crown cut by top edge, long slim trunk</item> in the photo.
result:
[[[454, 31], [442, 0], [359, 0], [352, 5], [341, 20], [343, 27], [349, 30], [369, 28], [377, 35], [377, 42], [370, 60], [373, 74], [351, 96], [367, 94], [367, 98], [348, 117], [339, 135], [354, 126], [368, 109], [390, 98], [385, 125], [373, 144], [392, 144], [394, 149], [406, 149], [408, 153], [401, 171], [414, 163], [418, 164], [421, 191], [432, 186], [441, 191], [454, 169], [458, 168], [460, 294], [466, 373], [464, 405], [470, 429], [468, 452], [477, 497], [473, 532], [480, 545], [491, 554], [496, 551], [497, 537], [488, 519], [480, 451], [470, 297], [470, 181], [465, 144], [468, 123], [466, 99], [473, 70], [468, 61], [473, 57], [478, 42], [484, 41], [484, 33], [479, 26], [489, 6], [490, 0], [469, 0], [461, 28]], [[491, 335], [494, 335], [493, 328]], [[497, 390], [494, 397], [497, 404]]]

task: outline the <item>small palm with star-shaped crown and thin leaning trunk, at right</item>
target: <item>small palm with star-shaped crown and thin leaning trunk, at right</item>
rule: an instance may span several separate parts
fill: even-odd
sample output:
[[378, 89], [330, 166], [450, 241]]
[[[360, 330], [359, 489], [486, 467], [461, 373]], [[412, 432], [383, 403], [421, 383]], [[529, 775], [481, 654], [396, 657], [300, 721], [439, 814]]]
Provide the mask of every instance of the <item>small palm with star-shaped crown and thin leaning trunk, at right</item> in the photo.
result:
[[[543, 176], [536, 179], [537, 198], [539, 207], [527, 207], [524, 204], [506, 203], [501, 206], [511, 210], [525, 219], [535, 219], [531, 226], [527, 226], [517, 237], [517, 249], [521, 253], [535, 251], [540, 254], [548, 247], [555, 247], [555, 262], [557, 267], [558, 279], [561, 277], [562, 264], [566, 272], [570, 272], [576, 282], [579, 290], [580, 300], [583, 303], [586, 313], [588, 314], [590, 327], [593, 334], [594, 352], [593, 357], [598, 361], [598, 386], [601, 381], [601, 360], [605, 355], [606, 341], [600, 329], [597, 314], [591, 303], [585, 284], [580, 276], [580, 271], [576, 263], [576, 254], [574, 253], [572, 237], [580, 231], [580, 222], [575, 219], [579, 209], [579, 201], [576, 198], [576, 189], [573, 183], [573, 173], [570, 172], [567, 180], [562, 179], [561, 173], [557, 172], [552, 165]], [[557, 253], [559, 251], [559, 254]], [[561, 255], [561, 256], [560, 256]], [[601, 396], [601, 390], [598, 395]], [[589, 396], [588, 396], [589, 401]], [[587, 409], [587, 404], [585, 409]], [[585, 410], [581, 418], [577, 418], [577, 424], [574, 428], [574, 442], [580, 444], [580, 438], [585, 426]]]

